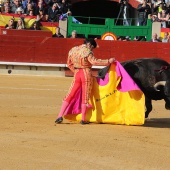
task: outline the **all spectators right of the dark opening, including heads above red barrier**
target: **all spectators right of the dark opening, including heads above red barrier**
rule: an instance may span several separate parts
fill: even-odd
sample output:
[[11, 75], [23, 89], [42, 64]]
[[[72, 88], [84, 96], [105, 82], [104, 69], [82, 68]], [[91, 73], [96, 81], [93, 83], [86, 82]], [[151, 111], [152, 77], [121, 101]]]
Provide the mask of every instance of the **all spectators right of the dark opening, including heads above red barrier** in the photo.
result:
[[[129, 7], [128, 0], [120, 0], [121, 4], [121, 17], [123, 18], [123, 25], [129, 26], [129, 13], [131, 8]], [[138, 25], [146, 26], [147, 20], [151, 19], [152, 22], [159, 22], [161, 28], [170, 28], [170, 0], [141, 0], [137, 7], [138, 12]], [[165, 33], [166, 40], [158, 38], [156, 33], [153, 33], [152, 42], [170, 42], [168, 38], [170, 35]], [[120, 41], [129, 41], [129, 37], [118, 37]], [[135, 41], [146, 41], [146, 37], [135, 37]]]

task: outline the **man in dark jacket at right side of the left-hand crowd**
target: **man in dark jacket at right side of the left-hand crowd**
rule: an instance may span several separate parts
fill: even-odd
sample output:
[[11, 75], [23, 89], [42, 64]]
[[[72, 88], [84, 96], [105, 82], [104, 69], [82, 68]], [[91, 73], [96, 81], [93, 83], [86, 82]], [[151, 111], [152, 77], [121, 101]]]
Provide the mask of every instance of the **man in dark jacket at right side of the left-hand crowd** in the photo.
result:
[[58, 22], [60, 14], [61, 14], [61, 12], [59, 10], [58, 3], [54, 3], [53, 6], [48, 9], [48, 21], [49, 22]]

